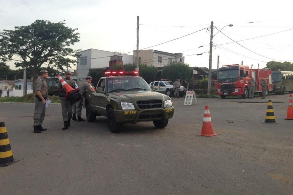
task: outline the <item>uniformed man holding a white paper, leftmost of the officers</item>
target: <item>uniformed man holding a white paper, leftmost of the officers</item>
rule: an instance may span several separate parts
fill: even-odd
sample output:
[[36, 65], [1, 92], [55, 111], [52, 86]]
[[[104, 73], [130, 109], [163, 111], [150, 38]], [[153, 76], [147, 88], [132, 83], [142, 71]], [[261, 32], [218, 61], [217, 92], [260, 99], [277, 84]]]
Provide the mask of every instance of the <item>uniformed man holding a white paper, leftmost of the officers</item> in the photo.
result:
[[46, 100], [48, 87], [45, 79], [48, 77], [47, 70], [40, 71], [40, 77], [35, 81], [35, 111], [34, 111], [34, 133], [41, 133], [47, 129], [42, 128], [42, 123], [45, 119]]

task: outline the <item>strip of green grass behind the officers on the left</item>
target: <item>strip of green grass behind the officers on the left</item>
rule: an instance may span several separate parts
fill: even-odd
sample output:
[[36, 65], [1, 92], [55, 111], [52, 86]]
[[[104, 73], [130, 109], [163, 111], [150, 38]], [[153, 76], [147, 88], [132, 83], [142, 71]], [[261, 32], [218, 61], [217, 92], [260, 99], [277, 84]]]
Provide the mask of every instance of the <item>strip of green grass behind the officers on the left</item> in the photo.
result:
[[[58, 96], [47, 96], [52, 103], [60, 103], [60, 99]], [[1, 97], [0, 102], [25, 102], [25, 103], [33, 103], [35, 99], [35, 94], [30, 93], [25, 95], [24, 97]]]

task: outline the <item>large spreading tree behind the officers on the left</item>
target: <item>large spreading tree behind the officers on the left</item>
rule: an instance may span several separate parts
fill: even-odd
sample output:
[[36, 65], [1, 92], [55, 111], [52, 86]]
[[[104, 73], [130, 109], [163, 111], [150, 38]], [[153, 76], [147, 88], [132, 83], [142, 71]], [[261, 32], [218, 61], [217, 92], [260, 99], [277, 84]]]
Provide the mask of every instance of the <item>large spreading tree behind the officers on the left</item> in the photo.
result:
[[[52, 23], [36, 20], [27, 26], [16, 26], [15, 30], [3, 30], [0, 33], [2, 61], [11, 60], [15, 55], [20, 56], [22, 60], [15, 63], [16, 67], [32, 69], [33, 81], [45, 62], [61, 70], [64, 70], [63, 66], [70, 67], [70, 63], [76, 62], [76, 53], [79, 51], [70, 46], [79, 42], [79, 33], [75, 33], [77, 28], [65, 26], [64, 21]], [[35, 85], [33, 87], [35, 90]]]

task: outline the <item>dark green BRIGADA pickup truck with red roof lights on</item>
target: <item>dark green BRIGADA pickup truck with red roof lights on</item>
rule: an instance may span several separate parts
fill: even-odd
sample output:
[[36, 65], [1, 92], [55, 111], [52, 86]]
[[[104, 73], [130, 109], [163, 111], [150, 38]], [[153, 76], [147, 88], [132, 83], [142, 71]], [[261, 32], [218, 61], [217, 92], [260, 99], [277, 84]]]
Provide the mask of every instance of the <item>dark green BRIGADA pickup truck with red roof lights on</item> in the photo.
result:
[[140, 121], [152, 121], [157, 128], [164, 128], [173, 117], [174, 107], [170, 97], [154, 90], [139, 76], [102, 77], [96, 91], [85, 93], [86, 119], [94, 122], [96, 116], [108, 117], [112, 133], [120, 132], [124, 123]]

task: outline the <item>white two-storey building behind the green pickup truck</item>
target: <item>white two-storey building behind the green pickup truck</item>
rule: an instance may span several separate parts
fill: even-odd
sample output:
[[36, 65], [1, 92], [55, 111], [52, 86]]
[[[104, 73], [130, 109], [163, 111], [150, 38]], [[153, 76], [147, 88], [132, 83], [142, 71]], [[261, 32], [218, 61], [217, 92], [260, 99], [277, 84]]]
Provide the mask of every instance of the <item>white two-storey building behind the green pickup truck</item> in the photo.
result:
[[81, 57], [77, 58], [77, 78], [84, 79], [90, 69], [101, 69], [109, 67], [111, 56], [122, 56], [123, 64], [132, 64], [133, 55], [120, 54], [119, 52], [108, 52], [99, 49], [87, 49], [79, 52]]

